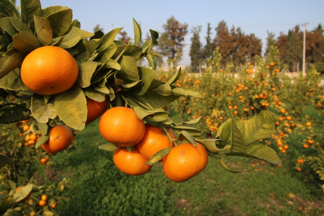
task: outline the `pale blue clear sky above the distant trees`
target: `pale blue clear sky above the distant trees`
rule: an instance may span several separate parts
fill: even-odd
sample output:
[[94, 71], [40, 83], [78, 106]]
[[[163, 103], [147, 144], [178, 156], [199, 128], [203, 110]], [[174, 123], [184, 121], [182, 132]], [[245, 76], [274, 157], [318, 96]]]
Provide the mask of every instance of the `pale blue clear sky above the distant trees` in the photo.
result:
[[[171, 15], [180, 22], [186, 22], [188, 29], [202, 25], [200, 38], [204, 43], [207, 23], [210, 22], [213, 35], [218, 22], [225, 20], [229, 27], [241, 27], [246, 33], [255, 33], [262, 39], [265, 49], [267, 30], [276, 34], [296, 24], [308, 22], [308, 30], [319, 23], [324, 24], [324, 0], [40, 0], [42, 8], [52, 5], [68, 6], [73, 10], [73, 19], [81, 22], [81, 28], [92, 31], [96, 24], [104, 32], [115, 27], [124, 27], [132, 38], [134, 17], [141, 23], [142, 35], [149, 29], [162, 32], [162, 25]], [[191, 33], [185, 37], [181, 65], [189, 65]]]

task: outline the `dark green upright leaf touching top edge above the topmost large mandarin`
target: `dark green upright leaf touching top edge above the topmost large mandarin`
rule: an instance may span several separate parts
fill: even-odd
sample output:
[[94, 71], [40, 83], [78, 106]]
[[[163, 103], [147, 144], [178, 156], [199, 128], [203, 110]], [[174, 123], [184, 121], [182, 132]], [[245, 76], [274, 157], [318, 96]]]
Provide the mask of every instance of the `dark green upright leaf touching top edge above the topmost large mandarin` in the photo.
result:
[[41, 16], [41, 5], [39, 0], [20, 0], [21, 21], [34, 24], [34, 17]]

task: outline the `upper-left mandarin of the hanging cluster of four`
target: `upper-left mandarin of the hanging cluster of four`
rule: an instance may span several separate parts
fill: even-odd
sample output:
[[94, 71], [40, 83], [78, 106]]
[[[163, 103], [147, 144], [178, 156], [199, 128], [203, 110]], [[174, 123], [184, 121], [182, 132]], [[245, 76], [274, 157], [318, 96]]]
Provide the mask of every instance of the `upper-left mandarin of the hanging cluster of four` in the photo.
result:
[[113, 107], [102, 115], [99, 131], [110, 143], [123, 147], [134, 146], [142, 140], [145, 124], [137, 118], [133, 109]]

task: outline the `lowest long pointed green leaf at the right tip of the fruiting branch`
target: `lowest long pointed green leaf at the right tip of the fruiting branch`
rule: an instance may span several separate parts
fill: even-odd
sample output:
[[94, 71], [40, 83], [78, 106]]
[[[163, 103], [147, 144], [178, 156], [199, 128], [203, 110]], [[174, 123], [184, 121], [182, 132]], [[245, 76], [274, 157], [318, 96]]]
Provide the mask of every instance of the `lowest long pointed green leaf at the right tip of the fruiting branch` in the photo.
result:
[[268, 146], [262, 144], [253, 144], [246, 147], [246, 153], [227, 153], [225, 156], [238, 156], [238, 157], [247, 157], [255, 158], [264, 161], [268, 161], [273, 164], [281, 164], [281, 160], [276, 154], [275, 150], [269, 148]]

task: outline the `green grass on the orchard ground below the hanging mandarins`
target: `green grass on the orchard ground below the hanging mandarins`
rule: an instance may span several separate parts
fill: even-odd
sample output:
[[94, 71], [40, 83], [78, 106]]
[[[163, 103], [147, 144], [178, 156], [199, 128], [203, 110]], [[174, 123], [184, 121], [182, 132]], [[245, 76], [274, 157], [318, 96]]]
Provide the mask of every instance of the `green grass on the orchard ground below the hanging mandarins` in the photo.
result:
[[69, 181], [56, 208], [60, 216], [318, 216], [324, 213], [319, 182], [309, 181], [305, 174], [291, 169], [295, 162], [290, 159], [282, 158], [281, 167], [238, 157], [226, 159], [231, 169], [258, 170], [232, 174], [209, 158], [207, 168], [184, 183], [168, 180], [161, 163], [155, 164], [146, 175], [128, 176], [114, 166], [111, 152], [98, 148], [105, 143], [98, 122], [78, 132], [77, 149], [51, 156], [54, 174]]

